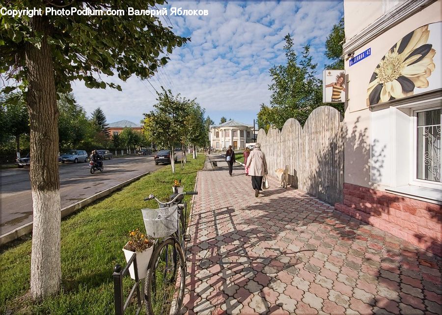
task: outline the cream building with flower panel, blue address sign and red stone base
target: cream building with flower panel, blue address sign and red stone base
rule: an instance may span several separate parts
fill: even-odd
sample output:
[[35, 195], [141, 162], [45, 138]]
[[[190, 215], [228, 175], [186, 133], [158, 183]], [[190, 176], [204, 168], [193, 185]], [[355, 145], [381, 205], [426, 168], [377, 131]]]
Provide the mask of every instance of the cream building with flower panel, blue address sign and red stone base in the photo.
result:
[[344, 199], [335, 205], [438, 255], [441, 4], [344, 0], [347, 132]]

